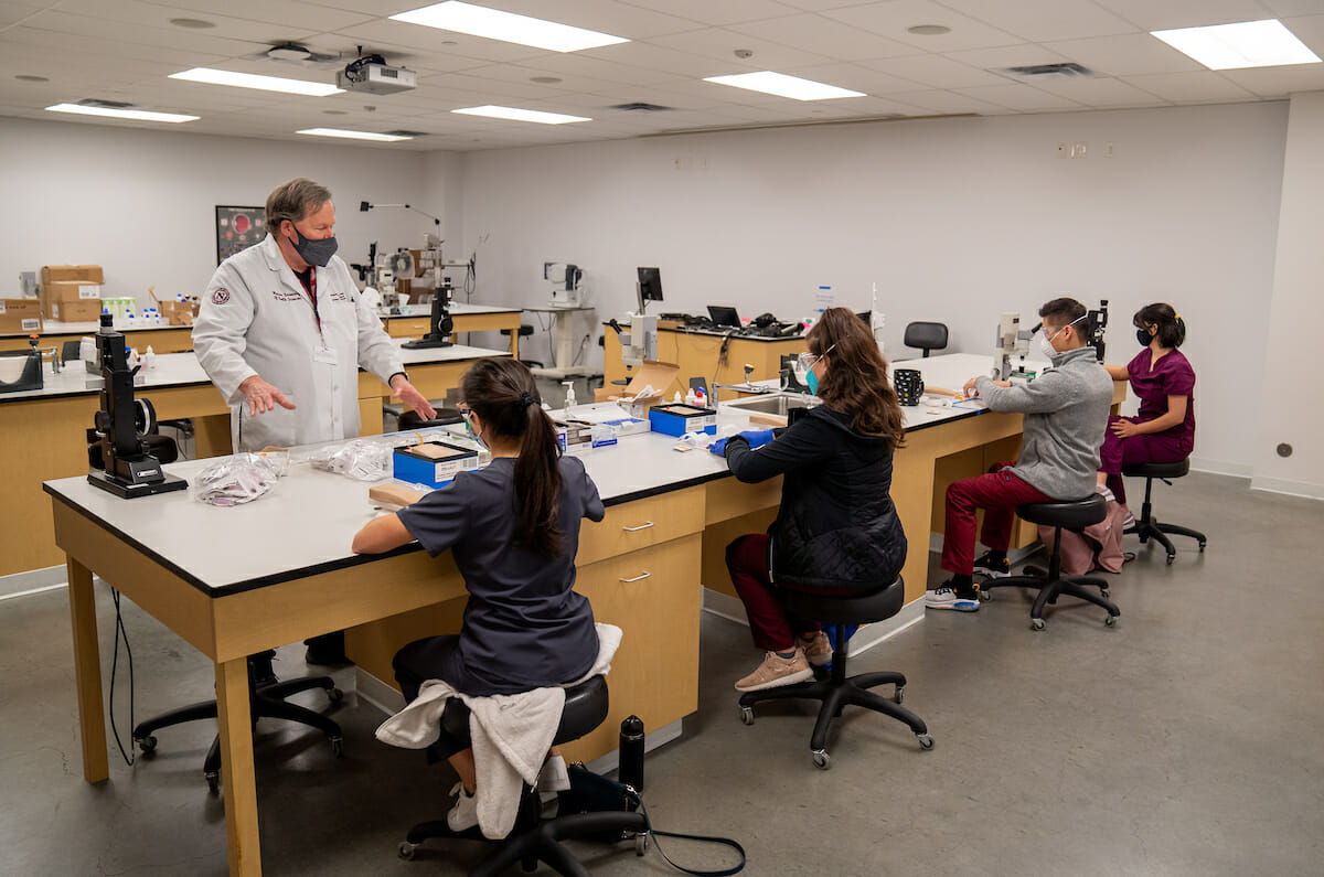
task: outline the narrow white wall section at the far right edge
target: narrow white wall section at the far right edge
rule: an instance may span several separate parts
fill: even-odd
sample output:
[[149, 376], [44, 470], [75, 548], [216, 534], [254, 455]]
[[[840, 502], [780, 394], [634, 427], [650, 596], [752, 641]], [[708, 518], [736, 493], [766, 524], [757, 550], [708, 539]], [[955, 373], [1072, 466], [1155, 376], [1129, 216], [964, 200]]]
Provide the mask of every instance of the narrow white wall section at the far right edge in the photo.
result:
[[[1251, 486], [1324, 497], [1315, 327], [1324, 319], [1324, 93], [1292, 97]], [[1279, 442], [1292, 445], [1279, 457]]]

